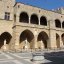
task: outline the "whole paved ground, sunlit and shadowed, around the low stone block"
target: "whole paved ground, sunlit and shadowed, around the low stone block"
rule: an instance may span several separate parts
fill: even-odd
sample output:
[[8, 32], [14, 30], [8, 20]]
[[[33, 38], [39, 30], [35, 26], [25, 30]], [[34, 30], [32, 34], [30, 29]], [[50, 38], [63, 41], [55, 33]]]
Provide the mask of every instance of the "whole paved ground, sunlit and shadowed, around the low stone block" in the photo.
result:
[[64, 52], [47, 53], [42, 62], [32, 62], [31, 59], [31, 52], [0, 52], [0, 64], [64, 64]]

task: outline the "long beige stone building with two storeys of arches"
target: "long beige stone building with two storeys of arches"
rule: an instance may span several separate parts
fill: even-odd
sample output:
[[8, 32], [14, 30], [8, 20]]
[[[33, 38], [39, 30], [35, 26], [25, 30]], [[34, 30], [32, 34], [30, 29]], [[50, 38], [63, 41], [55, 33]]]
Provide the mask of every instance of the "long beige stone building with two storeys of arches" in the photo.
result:
[[64, 45], [64, 9], [44, 10], [0, 0], [0, 49], [54, 49]]

